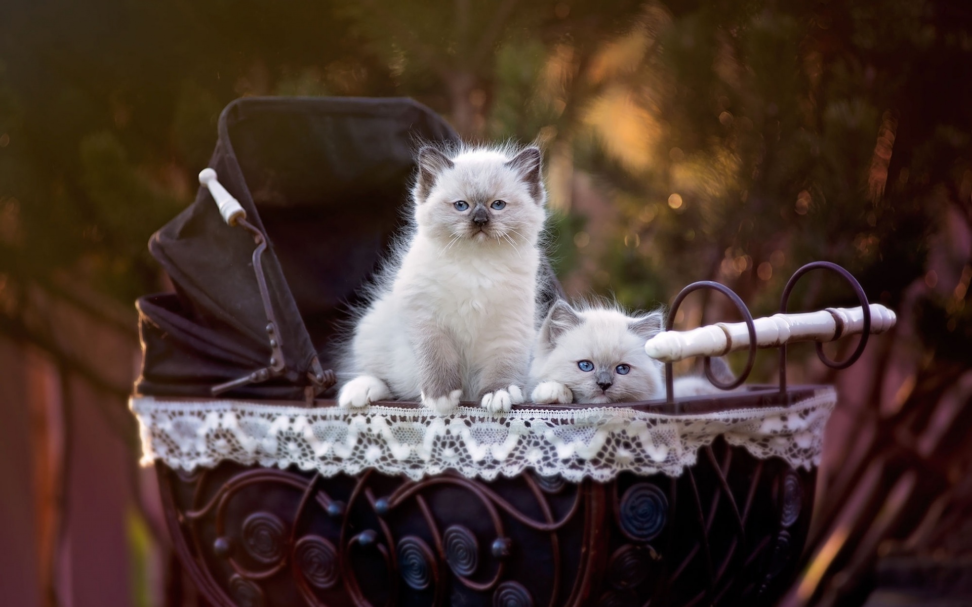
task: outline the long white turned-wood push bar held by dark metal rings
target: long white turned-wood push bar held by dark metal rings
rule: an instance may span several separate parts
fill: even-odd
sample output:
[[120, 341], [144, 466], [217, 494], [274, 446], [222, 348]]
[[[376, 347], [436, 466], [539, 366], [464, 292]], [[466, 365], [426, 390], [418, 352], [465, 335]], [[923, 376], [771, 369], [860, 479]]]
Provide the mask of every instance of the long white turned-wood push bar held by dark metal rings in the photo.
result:
[[[884, 333], [897, 317], [881, 304], [871, 304], [871, 334]], [[775, 314], [752, 321], [757, 348], [776, 348], [794, 342], [831, 342], [864, 330], [864, 310], [827, 308], [804, 314]], [[693, 356], [721, 356], [749, 347], [746, 322], [716, 322], [689, 331], [664, 331], [644, 344], [644, 352], [662, 362]]]

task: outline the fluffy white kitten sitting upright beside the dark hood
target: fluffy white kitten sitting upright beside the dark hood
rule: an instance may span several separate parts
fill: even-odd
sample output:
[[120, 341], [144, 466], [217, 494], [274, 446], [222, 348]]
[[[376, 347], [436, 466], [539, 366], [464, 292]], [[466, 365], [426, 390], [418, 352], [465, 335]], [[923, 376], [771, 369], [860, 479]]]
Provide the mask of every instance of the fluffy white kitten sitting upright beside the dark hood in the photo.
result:
[[444, 414], [475, 399], [508, 411], [524, 400], [536, 336], [540, 152], [426, 147], [418, 165], [414, 234], [358, 320], [345, 356], [358, 377], [338, 404], [421, 399]]

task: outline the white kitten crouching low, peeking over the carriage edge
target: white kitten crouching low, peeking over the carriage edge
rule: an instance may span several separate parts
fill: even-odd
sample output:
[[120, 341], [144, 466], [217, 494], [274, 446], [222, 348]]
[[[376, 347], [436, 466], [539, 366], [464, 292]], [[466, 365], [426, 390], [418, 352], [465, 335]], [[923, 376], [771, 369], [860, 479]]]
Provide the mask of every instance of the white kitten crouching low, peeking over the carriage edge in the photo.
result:
[[662, 363], [644, 353], [664, 315], [629, 317], [605, 307], [550, 308], [540, 327], [530, 370], [536, 403], [608, 403], [665, 395]]

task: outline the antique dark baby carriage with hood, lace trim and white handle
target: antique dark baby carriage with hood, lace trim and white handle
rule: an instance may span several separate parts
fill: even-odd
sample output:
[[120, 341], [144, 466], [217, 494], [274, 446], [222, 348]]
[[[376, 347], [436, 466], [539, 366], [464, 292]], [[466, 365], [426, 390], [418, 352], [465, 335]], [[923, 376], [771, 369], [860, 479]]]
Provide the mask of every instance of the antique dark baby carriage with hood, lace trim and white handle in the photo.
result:
[[[223, 112], [195, 202], [150, 244], [175, 292], [138, 302], [131, 408], [183, 566], [215, 605], [771, 604], [806, 539], [832, 388], [444, 418], [326, 398], [416, 143], [455, 139], [405, 99]], [[861, 308], [816, 315], [753, 321], [711, 283], [674, 306], [700, 287], [746, 322], [662, 333], [656, 357], [749, 349], [747, 373], [757, 345], [859, 332], [850, 364], [893, 323], [859, 287]]]

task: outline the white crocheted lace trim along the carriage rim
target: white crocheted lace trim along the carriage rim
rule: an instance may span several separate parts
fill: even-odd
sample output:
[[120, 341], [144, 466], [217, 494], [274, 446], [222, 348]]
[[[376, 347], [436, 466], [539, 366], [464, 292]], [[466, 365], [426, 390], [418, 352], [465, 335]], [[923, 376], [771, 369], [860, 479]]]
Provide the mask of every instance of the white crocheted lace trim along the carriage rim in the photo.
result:
[[789, 407], [702, 415], [659, 415], [624, 407], [491, 414], [460, 407], [439, 417], [427, 409], [373, 406], [304, 409], [240, 400], [132, 397], [142, 435], [142, 464], [212, 467], [223, 460], [324, 476], [374, 468], [418, 480], [443, 470], [469, 478], [541, 475], [608, 481], [619, 472], [678, 476], [696, 452], [722, 435], [731, 445], [794, 468], [820, 460], [823, 427], [836, 404], [819, 388]]

